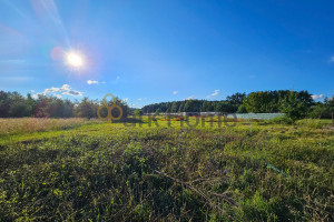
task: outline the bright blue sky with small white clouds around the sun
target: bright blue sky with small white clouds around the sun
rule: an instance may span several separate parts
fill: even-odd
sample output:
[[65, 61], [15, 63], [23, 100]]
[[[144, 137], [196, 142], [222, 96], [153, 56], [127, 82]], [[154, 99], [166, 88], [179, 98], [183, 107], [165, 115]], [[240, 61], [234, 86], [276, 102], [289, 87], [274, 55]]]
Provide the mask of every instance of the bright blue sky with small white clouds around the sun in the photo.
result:
[[137, 108], [264, 90], [322, 100], [334, 94], [333, 11], [332, 0], [0, 0], [0, 90], [112, 93]]

